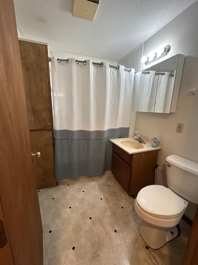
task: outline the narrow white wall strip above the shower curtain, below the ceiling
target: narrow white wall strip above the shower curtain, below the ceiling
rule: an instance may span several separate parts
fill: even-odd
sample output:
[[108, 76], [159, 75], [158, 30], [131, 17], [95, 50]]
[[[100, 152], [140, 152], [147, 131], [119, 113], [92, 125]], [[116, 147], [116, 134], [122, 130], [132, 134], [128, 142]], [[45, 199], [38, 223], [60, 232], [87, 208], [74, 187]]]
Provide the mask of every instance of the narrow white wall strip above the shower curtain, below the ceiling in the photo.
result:
[[83, 56], [79, 54], [74, 54], [74, 53], [66, 53], [66, 52], [60, 52], [60, 51], [55, 51], [55, 50], [50, 50], [49, 47], [49, 53], [50, 56], [53, 57], [58, 57], [60, 59], [67, 59], [67, 58], [76, 58], [77, 60], [84, 61], [84, 60], [92, 60], [93, 62], [109, 62], [110, 64], [117, 65], [118, 62], [116, 61], [109, 61], [105, 59], [100, 59], [100, 58], [95, 58], [95, 57], [88, 57], [88, 56]]

